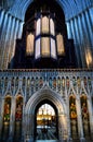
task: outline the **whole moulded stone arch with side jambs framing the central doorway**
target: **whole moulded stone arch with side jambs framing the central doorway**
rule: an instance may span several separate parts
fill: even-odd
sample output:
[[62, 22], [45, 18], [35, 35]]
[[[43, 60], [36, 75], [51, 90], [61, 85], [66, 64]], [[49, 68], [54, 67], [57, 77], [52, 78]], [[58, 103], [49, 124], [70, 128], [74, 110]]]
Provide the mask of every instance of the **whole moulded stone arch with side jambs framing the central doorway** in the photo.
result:
[[57, 93], [55, 93], [50, 88], [42, 88], [39, 92], [35, 93], [26, 104], [26, 109], [25, 109], [26, 139], [34, 139], [35, 111], [37, 106], [43, 100], [51, 102], [57, 109], [57, 117], [58, 117], [57, 121], [59, 126], [58, 139], [59, 140], [67, 139], [68, 132], [67, 132], [66, 104]]

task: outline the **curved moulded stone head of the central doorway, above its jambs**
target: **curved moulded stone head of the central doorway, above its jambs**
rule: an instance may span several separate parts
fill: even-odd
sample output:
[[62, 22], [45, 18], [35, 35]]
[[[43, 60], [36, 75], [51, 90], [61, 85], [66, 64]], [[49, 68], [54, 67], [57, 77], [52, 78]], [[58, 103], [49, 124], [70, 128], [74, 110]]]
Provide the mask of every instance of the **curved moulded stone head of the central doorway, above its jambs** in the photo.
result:
[[35, 93], [29, 98], [29, 100], [26, 105], [25, 114], [35, 113], [37, 105], [43, 100], [52, 102], [55, 105], [55, 107], [57, 108], [58, 114], [59, 113], [67, 114], [65, 102], [62, 99], [62, 97], [57, 93], [55, 93], [54, 91], [52, 91], [50, 88], [42, 88], [39, 92]]

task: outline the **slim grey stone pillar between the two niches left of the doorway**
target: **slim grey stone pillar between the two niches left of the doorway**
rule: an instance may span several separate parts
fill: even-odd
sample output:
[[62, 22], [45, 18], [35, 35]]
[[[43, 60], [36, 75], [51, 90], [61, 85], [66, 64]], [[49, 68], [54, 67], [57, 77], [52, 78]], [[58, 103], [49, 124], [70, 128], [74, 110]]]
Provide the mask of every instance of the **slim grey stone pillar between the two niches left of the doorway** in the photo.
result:
[[14, 122], [15, 122], [15, 97], [11, 98], [11, 116], [10, 116], [10, 134], [9, 139], [13, 139], [14, 135]]

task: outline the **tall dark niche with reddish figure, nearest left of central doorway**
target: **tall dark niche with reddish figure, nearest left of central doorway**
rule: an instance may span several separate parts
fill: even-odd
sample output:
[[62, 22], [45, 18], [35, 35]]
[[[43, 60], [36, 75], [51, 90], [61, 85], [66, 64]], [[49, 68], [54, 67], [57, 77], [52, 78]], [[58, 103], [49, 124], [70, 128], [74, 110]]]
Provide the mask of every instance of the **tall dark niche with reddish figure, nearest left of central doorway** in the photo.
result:
[[16, 107], [15, 107], [15, 130], [14, 130], [14, 141], [19, 141], [22, 138], [22, 122], [23, 122], [23, 97], [22, 95], [16, 96]]

